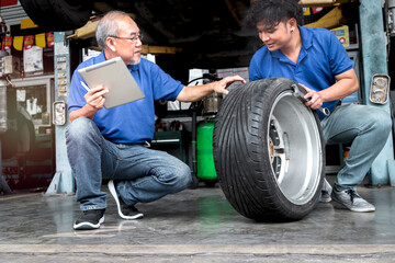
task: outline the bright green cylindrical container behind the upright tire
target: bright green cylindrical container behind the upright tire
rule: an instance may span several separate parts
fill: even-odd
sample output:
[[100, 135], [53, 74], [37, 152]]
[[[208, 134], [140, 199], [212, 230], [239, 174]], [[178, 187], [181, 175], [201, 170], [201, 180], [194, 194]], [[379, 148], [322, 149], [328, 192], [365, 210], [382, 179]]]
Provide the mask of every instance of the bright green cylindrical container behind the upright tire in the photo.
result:
[[214, 121], [200, 123], [196, 130], [198, 178], [216, 180], [217, 175], [213, 157]]

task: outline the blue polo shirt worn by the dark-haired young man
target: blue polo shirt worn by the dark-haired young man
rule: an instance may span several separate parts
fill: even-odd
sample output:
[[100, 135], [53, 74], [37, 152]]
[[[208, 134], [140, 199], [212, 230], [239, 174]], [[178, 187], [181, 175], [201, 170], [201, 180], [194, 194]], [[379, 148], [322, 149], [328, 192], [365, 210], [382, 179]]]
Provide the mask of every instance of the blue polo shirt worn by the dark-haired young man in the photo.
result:
[[[352, 68], [352, 61], [335, 34], [325, 28], [298, 26], [302, 48], [296, 64], [280, 50], [269, 52], [261, 47], [252, 57], [249, 67], [250, 81], [284, 77], [320, 91], [336, 82], [335, 76]], [[325, 102], [332, 111], [338, 101]], [[321, 113], [318, 115], [323, 117]]]

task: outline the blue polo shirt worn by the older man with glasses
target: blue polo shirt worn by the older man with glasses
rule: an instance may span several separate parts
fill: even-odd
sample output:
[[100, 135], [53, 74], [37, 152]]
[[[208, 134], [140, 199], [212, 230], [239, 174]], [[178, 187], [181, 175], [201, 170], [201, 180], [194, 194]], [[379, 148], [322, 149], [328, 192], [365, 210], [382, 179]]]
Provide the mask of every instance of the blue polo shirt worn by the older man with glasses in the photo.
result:
[[[105, 60], [104, 53], [78, 66], [70, 84], [68, 111], [72, 112], [86, 105], [83, 81], [78, 69]], [[106, 110], [98, 111], [93, 122], [98, 125], [103, 137], [116, 144], [142, 144], [151, 140], [155, 129], [154, 101], [174, 101], [183, 84], [165, 73], [156, 64], [144, 58], [138, 65], [128, 66], [137, 84], [145, 94], [145, 99], [126, 103]]]

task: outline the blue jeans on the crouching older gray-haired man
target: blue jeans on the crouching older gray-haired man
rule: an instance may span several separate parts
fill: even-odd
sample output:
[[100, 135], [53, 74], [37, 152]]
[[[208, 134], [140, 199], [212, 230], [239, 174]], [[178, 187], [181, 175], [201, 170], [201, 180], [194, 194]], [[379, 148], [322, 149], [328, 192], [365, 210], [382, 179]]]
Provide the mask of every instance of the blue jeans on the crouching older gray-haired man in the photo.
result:
[[103, 179], [117, 181], [116, 192], [127, 205], [159, 199], [192, 183], [190, 168], [181, 160], [143, 145], [113, 144], [89, 118], [69, 124], [66, 145], [81, 210], [106, 207]]

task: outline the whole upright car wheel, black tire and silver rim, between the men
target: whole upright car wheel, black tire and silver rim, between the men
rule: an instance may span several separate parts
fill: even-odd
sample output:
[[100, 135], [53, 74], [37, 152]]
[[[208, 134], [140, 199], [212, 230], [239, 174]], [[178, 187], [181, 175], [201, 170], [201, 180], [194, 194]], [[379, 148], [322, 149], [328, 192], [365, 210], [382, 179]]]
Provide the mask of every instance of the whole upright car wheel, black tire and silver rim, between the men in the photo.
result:
[[318, 203], [325, 144], [317, 113], [294, 95], [303, 89], [270, 78], [232, 89], [217, 113], [213, 151], [232, 206], [257, 221], [293, 221]]

